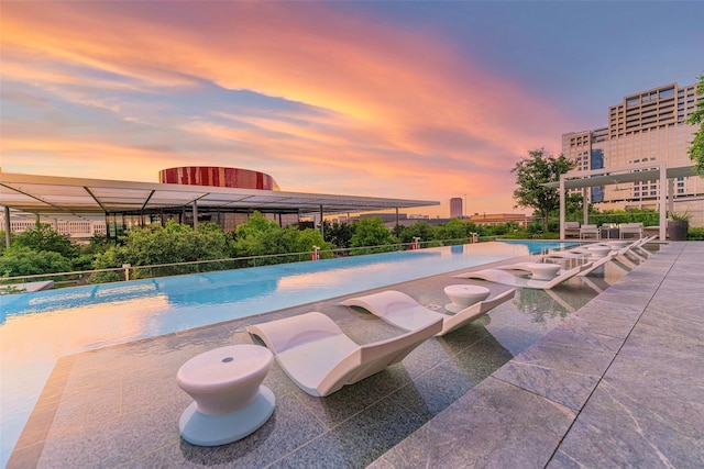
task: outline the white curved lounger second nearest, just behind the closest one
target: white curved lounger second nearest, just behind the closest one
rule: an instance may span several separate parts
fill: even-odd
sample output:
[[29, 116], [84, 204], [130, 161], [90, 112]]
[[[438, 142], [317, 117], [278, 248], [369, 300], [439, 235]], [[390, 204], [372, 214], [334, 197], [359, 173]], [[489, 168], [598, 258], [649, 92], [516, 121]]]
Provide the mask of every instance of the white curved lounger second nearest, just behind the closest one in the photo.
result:
[[340, 304], [363, 308], [388, 324], [405, 331], [414, 331], [424, 327], [432, 321], [440, 320], [442, 321], [442, 330], [436, 335], [443, 336], [483, 316], [494, 308], [514, 298], [515, 294], [516, 289], [510, 289], [492, 299], [474, 303], [452, 315], [432, 311], [406, 293], [396, 290], [386, 290], [364, 297], [350, 298]]

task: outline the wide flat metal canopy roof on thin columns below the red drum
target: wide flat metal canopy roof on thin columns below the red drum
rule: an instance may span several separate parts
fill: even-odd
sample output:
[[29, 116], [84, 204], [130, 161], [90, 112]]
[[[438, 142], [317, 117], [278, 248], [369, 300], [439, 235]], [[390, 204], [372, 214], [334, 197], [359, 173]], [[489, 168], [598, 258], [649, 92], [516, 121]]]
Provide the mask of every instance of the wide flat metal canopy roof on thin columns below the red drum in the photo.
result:
[[[0, 205], [12, 215], [90, 220], [112, 212], [193, 208], [336, 214], [439, 205], [428, 200], [315, 194], [0, 172]], [[7, 211], [6, 211], [7, 213]], [[91, 216], [92, 215], [92, 216]]]

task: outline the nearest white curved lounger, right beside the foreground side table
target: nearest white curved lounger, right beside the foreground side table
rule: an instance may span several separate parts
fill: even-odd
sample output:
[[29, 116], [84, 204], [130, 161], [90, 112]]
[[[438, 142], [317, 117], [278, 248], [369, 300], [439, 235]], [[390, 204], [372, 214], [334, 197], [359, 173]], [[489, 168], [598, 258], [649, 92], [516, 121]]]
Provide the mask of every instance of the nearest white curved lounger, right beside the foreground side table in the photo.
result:
[[358, 345], [330, 317], [311, 312], [254, 324], [248, 332], [266, 344], [300, 389], [324, 397], [399, 362], [441, 328], [437, 319], [407, 334]]

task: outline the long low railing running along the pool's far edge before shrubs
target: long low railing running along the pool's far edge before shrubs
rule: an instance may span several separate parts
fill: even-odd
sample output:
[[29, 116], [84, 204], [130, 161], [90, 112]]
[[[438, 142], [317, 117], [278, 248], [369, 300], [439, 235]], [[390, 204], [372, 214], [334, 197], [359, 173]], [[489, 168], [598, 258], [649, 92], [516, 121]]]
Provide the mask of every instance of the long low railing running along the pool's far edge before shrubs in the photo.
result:
[[[369, 254], [393, 253], [399, 250], [424, 249], [428, 247], [453, 246], [466, 243], [495, 239], [496, 236], [480, 238], [443, 239], [430, 242], [400, 243], [381, 246], [350, 247], [336, 249], [314, 249], [311, 252], [277, 254], [267, 256], [234, 257], [228, 259], [193, 260], [188, 263], [156, 264], [151, 266], [132, 266], [125, 264], [97, 270], [77, 270], [72, 272], [37, 273], [33, 276], [2, 277], [0, 279], [1, 293], [16, 293], [23, 291], [18, 284], [53, 280], [53, 288], [75, 287], [80, 284], [110, 283], [118, 281], [169, 277], [186, 273], [202, 273], [218, 270], [232, 270], [248, 267], [261, 267], [276, 264], [292, 264], [318, 259], [334, 259], [339, 257], [362, 256]], [[13, 286], [15, 286], [13, 288]]]

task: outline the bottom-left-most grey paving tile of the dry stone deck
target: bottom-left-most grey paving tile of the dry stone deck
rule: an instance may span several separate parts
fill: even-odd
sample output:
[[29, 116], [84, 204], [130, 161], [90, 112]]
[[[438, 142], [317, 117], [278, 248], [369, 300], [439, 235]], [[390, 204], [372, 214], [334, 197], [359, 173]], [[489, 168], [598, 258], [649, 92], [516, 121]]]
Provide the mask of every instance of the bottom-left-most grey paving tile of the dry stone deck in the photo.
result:
[[370, 468], [542, 468], [574, 416], [563, 405], [488, 378]]

